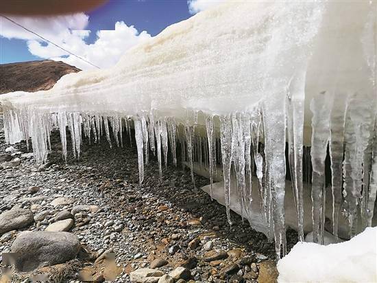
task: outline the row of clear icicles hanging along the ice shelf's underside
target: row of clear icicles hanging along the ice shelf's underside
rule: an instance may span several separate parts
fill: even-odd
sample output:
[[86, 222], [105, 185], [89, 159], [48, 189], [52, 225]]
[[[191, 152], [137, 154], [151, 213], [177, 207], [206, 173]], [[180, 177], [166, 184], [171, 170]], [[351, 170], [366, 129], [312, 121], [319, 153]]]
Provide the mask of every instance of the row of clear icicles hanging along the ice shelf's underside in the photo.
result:
[[[180, 143], [182, 163], [187, 160], [191, 167], [194, 181], [193, 162], [209, 166], [210, 183], [218, 163], [222, 163], [226, 211], [230, 219], [230, 190], [236, 190], [239, 204], [249, 212], [251, 205], [260, 205], [264, 212], [267, 231], [272, 225], [276, 242], [276, 253], [286, 253], [284, 225], [284, 179], [285, 135], [289, 144], [289, 170], [293, 183], [295, 203], [297, 205], [298, 233], [304, 239], [303, 229], [303, 111], [299, 102], [287, 95], [285, 120], [275, 121], [282, 125], [269, 125], [273, 120], [265, 117], [263, 107], [250, 113], [230, 113], [228, 115], [207, 116], [205, 119], [206, 135], [199, 135], [203, 125], [197, 124], [198, 112], [186, 122], [176, 122], [173, 117], [156, 119], [153, 114], [140, 114], [132, 117], [125, 115], [105, 115], [97, 113], [38, 113], [4, 109], [5, 137], [8, 140], [19, 128], [23, 139], [32, 138], [34, 156], [38, 161], [46, 161], [51, 150], [50, 133], [60, 131], [62, 154], [67, 155], [66, 131], [71, 134], [73, 155], [80, 157], [83, 138], [99, 142], [102, 135], [110, 146], [115, 141], [123, 146], [123, 132], [131, 138], [134, 128], [138, 152], [140, 183], [143, 183], [144, 164], [149, 161], [149, 153], [157, 155], [160, 177], [162, 176], [162, 158], [168, 163], [168, 150], [173, 164], [177, 165], [176, 143]], [[376, 111], [371, 104], [343, 104], [347, 109], [331, 107], [324, 99], [314, 98], [313, 137], [311, 144], [311, 163], [313, 166], [312, 199], [313, 231], [315, 242], [321, 242], [324, 236], [324, 210], [326, 203], [325, 167], [327, 146], [330, 149], [333, 195], [333, 234], [337, 236], [338, 216], [343, 207], [350, 221], [350, 236], [354, 236], [372, 224], [374, 202], [377, 190], [377, 124]], [[337, 111], [339, 110], [339, 111]], [[346, 111], [345, 111], [346, 110]], [[346, 113], [346, 114], [345, 114]], [[202, 115], [202, 113], [199, 113]], [[202, 117], [203, 118], [203, 117]], [[216, 126], [217, 124], [217, 126]], [[110, 131], [112, 134], [110, 135]], [[270, 133], [275, 131], [275, 133]], [[278, 132], [276, 132], [278, 131]], [[114, 141], [110, 140], [114, 137]], [[278, 140], [276, 140], [278, 139]], [[28, 143], [29, 144], [29, 143]], [[344, 153], [343, 153], [344, 152]], [[231, 174], [235, 173], [236, 188], [231, 188]], [[256, 176], [253, 175], [256, 172]], [[258, 179], [258, 188], [252, 188], [252, 178]], [[254, 203], [252, 190], [258, 190], [261, 203]], [[344, 202], [342, 201], [342, 192]], [[243, 210], [241, 210], [243, 211]], [[358, 229], [358, 213], [363, 221]], [[271, 236], [272, 238], [272, 236]]]

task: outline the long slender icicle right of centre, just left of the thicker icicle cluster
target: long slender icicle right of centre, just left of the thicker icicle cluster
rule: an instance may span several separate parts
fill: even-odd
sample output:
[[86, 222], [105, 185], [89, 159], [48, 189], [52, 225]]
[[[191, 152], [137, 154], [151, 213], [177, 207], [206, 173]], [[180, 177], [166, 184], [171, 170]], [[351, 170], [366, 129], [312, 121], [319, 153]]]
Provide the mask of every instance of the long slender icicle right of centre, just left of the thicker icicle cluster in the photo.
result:
[[220, 117], [220, 128], [226, 215], [228, 217], [229, 225], [232, 225], [232, 220], [230, 220], [230, 167], [232, 165], [232, 120], [230, 120], [230, 115]]

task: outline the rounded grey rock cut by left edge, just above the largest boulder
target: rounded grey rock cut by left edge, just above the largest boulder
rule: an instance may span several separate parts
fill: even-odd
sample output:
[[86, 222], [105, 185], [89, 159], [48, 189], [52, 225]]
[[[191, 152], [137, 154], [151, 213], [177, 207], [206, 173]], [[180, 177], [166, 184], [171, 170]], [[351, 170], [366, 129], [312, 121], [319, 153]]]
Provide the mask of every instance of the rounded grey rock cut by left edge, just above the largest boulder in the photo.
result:
[[0, 235], [8, 231], [27, 227], [34, 222], [32, 210], [14, 208], [0, 214]]

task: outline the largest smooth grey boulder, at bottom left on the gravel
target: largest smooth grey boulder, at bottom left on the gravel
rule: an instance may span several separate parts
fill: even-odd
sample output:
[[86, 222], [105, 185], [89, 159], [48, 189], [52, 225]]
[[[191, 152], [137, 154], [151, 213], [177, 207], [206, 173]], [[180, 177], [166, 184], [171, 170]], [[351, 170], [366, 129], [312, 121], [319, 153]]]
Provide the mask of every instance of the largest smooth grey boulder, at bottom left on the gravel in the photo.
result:
[[14, 240], [11, 251], [16, 253], [16, 269], [29, 272], [72, 260], [80, 251], [80, 241], [68, 232], [25, 231]]

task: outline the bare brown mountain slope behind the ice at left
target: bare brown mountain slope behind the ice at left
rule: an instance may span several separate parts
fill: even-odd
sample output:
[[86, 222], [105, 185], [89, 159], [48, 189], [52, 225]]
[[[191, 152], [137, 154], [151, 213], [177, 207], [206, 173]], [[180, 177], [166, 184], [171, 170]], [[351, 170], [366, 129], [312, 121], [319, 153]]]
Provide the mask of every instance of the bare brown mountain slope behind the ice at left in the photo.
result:
[[0, 65], [0, 94], [11, 91], [40, 91], [51, 89], [67, 73], [81, 71], [76, 67], [53, 60], [29, 61]]

